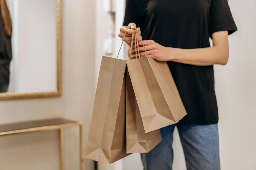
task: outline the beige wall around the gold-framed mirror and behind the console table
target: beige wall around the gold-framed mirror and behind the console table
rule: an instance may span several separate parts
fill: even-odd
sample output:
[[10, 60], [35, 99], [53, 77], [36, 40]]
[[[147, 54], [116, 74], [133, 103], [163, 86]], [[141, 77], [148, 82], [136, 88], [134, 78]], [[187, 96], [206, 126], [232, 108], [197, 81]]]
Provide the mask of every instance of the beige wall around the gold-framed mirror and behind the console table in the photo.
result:
[[[86, 146], [95, 91], [95, 2], [63, 0], [63, 95], [59, 98], [0, 101], [0, 123], [65, 116], [84, 123]], [[79, 169], [78, 128], [64, 133], [65, 170]], [[57, 132], [0, 137], [0, 169], [56, 170]], [[93, 170], [93, 161], [85, 160]]]

